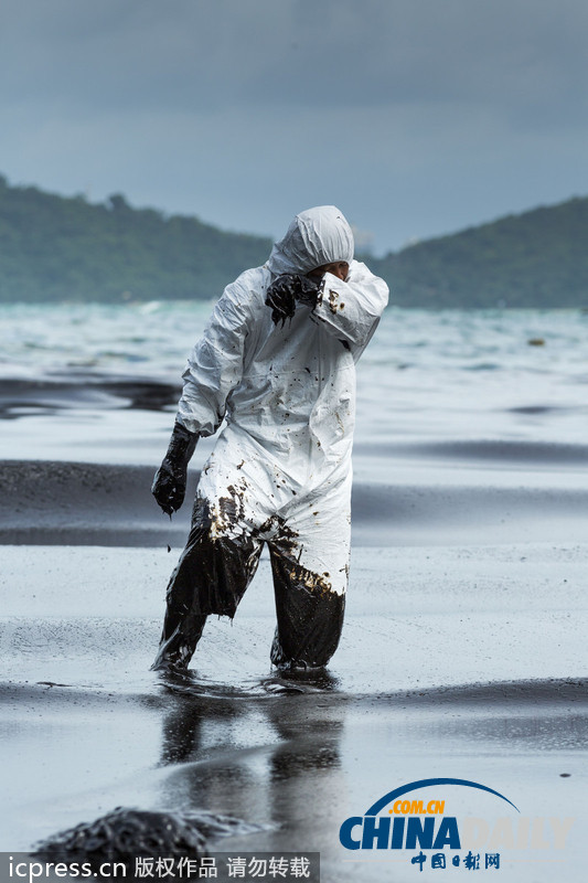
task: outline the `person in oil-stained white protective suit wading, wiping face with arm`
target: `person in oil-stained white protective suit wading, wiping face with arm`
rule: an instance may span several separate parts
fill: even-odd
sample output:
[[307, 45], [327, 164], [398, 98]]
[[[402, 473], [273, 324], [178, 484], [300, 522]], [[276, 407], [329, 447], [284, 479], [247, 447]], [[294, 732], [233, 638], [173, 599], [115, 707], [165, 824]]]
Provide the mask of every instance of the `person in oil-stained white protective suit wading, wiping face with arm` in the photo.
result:
[[386, 284], [353, 259], [332, 205], [297, 215], [268, 262], [216, 304], [183, 374], [152, 492], [180, 508], [200, 436], [226, 425], [202, 469], [188, 544], [167, 592], [153, 669], [188, 666], [210, 614], [234, 617], [267, 543], [271, 662], [325, 666], [339, 643], [351, 534], [355, 363]]

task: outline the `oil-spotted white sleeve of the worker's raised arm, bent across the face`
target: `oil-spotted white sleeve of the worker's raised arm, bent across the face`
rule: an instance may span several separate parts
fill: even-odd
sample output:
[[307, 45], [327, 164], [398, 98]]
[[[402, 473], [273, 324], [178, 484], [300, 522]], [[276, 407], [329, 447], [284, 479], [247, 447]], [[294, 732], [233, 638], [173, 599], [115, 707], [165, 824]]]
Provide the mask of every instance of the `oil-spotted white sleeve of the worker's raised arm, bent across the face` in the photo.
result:
[[334, 337], [346, 342], [354, 355], [363, 352], [388, 302], [388, 286], [374, 276], [365, 264], [353, 260], [346, 281], [325, 273], [314, 321]]

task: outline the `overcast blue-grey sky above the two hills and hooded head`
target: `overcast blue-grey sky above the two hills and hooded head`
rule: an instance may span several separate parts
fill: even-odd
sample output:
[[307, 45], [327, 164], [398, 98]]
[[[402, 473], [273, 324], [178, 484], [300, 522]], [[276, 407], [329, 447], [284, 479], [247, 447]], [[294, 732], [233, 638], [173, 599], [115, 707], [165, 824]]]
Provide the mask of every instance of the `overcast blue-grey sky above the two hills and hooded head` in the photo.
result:
[[588, 194], [586, 0], [1, 0], [0, 172], [376, 253]]

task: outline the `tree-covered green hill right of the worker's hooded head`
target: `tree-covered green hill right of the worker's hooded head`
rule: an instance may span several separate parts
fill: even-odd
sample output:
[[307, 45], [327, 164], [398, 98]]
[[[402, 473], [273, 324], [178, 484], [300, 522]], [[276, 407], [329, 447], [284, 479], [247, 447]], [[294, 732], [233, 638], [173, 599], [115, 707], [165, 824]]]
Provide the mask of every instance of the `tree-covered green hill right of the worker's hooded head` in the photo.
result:
[[573, 199], [371, 262], [403, 307], [588, 306], [588, 199]]

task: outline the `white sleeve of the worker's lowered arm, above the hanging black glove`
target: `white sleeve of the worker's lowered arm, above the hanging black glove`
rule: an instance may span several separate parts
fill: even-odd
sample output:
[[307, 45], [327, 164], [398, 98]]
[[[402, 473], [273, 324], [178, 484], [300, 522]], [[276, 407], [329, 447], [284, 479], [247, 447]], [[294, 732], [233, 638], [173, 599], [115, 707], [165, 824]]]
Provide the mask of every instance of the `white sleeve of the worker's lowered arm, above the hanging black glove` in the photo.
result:
[[182, 374], [178, 419], [190, 432], [213, 435], [223, 422], [227, 396], [243, 376], [249, 320], [250, 289], [239, 277], [225, 288]]

